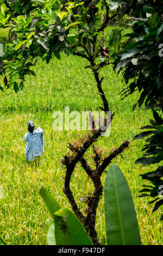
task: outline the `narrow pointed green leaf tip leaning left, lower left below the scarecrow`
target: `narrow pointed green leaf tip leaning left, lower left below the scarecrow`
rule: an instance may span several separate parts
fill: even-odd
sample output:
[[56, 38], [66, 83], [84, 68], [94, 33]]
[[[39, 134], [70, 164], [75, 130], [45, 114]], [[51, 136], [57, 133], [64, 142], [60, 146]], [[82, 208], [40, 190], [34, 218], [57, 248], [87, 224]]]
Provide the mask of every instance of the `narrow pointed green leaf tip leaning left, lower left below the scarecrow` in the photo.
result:
[[45, 188], [43, 187], [43, 184], [40, 184], [39, 187], [39, 194], [42, 197], [43, 201], [45, 202], [47, 209], [49, 213], [51, 214], [52, 218], [54, 217], [54, 212], [61, 209], [60, 205], [57, 203], [57, 201], [49, 194]]

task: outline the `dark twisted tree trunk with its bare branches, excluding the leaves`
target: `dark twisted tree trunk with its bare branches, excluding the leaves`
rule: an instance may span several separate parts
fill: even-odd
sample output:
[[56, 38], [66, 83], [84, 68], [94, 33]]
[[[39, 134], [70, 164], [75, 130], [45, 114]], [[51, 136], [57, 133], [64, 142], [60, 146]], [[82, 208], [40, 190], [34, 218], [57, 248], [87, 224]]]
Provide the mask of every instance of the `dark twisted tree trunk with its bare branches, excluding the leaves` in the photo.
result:
[[[104, 1], [105, 6], [106, 6], [106, 17], [105, 20], [99, 28], [99, 31], [103, 31], [105, 26], [108, 24], [108, 21], [111, 20], [113, 17], [115, 17], [117, 14], [115, 14], [112, 17], [109, 17], [109, 9], [108, 5], [106, 4], [106, 1]], [[96, 41], [96, 38], [95, 38]], [[100, 79], [99, 74], [98, 74], [98, 68], [96, 68], [96, 63], [95, 63], [95, 56], [90, 56], [89, 52], [87, 52], [87, 49], [84, 48], [85, 53], [79, 53], [79, 52], [73, 52], [74, 55], [80, 56], [82, 58], [85, 58], [89, 60], [90, 65], [92, 67], [93, 75], [96, 80], [97, 84], [97, 89], [99, 94], [101, 95], [101, 99], [103, 101], [103, 108], [100, 107], [106, 114], [106, 117], [108, 118], [108, 112], [109, 112], [109, 103], [106, 100], [104, 91], [102, 89], [102, 81], [103, 77]], [[89, 57], [88, 57], [89, 56]], [[114, 114], [111, 115], [111, 120], [113, 118]], [[104, 119], [104, 127], [105, 131], [107, 127], [110, 125], [107, 122], [107, 118]], [[99, 245], [99, 241], [97, 238], [97, 233], [95, 229], [95, 221], [96, 221], [96, 211], [97, 211], [97, 206], [99, 199], [102, 196], [103, 192], [103, 186], [101, 182], [101, 175], [105, 168], [110, 164], [110, 162], [119, 154], [121, 154], [124, 149], [128, 148], [129, 146], [129, 141], [126, 141], [120, 145], [117, 149], [115, 149], [109, 156], [106, 156], [103, 160], [100, 154], [98, 154], [96, 148], [93, 146], [93, 161], [95, 162], [95, 169], [92, 169], [87, 161], [84, 159], [84, 154], [91, 147], [93, 143], [101, 136], [101, 133], [104, 132], [101, 127], [96, 131], [95, 130], [95, 121], [92, 121], [92, 131], [91, 135], [87, 134], [86, 140], [83, 143], [82, 146], [77, 147], [77, 145], [70, 144], [68, 145], [68, 148], [72, 151], [73, 155], [66, 155], [64, 156], [64, 160], [62, 161], [62, 164], [66, 166], [66, 176], [65, 176], [65, 182], [64, 182], [64, 193], [66, 194], [66, 197], [68, 198], [68, 201], [71, 204], [71, 208], [76, 214], [76, 216], [79, 218], [79, 220], [82, 222], [84, 225], [87, 233], [89, 234], [92, 242], [94, 245]], [[90, 197], [87, 197], [86, 203], [87, 203], [87, 209], [86, 209], [86, 216], [82, 214], [82, 212], [79, 210], [76, 201], [74, 200], [73, 193], [70, 189], [70, 181], [71, 181], [71, 176], [74, 171], [74, 168], [76, 167], [76, 164], [80, 162], [82, 168], [85, 170], [86, 174], [91, 178], [93, 185], [94, 185], [94, 192], [93, 195]]]

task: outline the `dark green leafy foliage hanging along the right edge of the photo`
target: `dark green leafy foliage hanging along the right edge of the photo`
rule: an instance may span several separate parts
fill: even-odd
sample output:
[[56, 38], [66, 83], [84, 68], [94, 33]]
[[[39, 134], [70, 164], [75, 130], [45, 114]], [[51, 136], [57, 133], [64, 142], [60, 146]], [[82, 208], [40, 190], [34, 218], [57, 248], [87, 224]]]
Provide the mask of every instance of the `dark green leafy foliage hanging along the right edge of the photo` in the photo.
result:
[[[141, 163], [143, 166], [148, 164], [159, 163], [163, 160], [163, 1], [112, 1], [116, 8], [122, 4], [122, 9], [128, 6], [130, 15], [131, 28], [133, 31], [126, 34], [128, 42], [124, 42], [118, 51], [115, 60], [115, 69], [123, 71], [123, 80], [127, 88], [123, 90], [122, 95], [126, 97], [139, 91], [140, 97], [135, 102], [136, 105], [142, 106], [143, 102], [147, 108], [153, 110], [154, 120], [149, 120], [150, 125], [141, 129], [150, 129], [137, 135], [134, 139], [146, 139], [143, 147], [145, 153], [136, 160], [135, 163]], [[121, 13], [118, 7], [116, 10]], [[116, 32], [112, 32], [111, 39]], [[112, 39], [113, 40], [113, 39]], [[110, 44], [112, 41], [110, 40]], [[121, 45], [120, 45], [121, 46]], [[152, 186], [145, 186], [140, 197], [153, 197], [150, 203], [155, 203], [153, 211], [157, 210], [163, 204], [163, 166], [159, 166], [154, 172], [141, 175], [142, 179], [152, 182]], [[146, 192], [149, 192], [146, 193]], [[163, 215], [161, 216], [163, 220]]]

